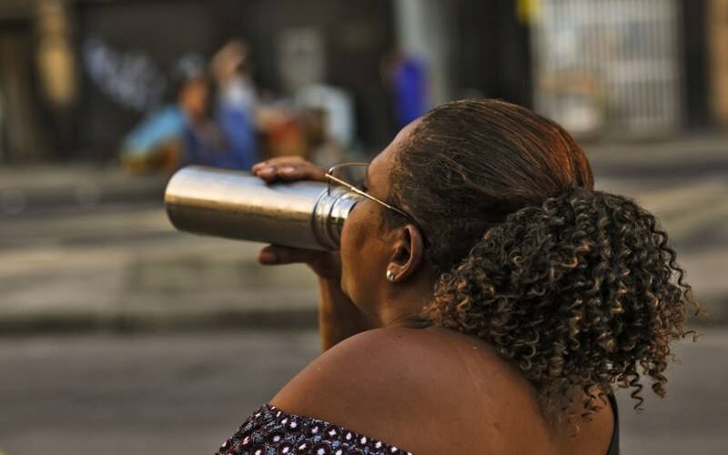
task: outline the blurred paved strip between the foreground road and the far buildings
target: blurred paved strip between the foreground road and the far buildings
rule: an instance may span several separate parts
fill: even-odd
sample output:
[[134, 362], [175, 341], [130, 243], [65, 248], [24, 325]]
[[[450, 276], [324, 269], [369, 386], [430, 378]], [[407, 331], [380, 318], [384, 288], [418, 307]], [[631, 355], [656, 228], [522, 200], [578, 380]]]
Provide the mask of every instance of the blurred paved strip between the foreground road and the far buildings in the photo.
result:
[[[714, 324], [728, 322], [727, 145], [585, 146], [598, 187], [661, 218]], [[258, 244], [175, 231], [165, 184], [116, 169], [0, 169], [0, 334], [316, 325], [306, 267], [264, 268]]]

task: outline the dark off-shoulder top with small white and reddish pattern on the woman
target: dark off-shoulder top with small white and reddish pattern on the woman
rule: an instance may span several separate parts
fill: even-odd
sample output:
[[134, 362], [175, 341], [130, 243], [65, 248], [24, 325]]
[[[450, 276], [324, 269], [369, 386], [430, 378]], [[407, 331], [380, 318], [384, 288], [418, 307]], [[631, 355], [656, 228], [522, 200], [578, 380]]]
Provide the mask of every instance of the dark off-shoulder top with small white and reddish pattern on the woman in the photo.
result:
[[339, 425], [310, 417], [287, 414], [264, 404], [253, 412], [240, 429], [223, 444], [216, 455], [412, 455], [347, 430]]

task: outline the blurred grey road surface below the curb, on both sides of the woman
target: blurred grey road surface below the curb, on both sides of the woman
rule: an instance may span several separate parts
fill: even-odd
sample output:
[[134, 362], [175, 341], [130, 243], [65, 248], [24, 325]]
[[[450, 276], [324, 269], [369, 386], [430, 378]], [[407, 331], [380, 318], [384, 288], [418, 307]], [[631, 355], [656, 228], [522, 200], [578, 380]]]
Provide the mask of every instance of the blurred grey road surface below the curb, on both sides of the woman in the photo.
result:
[[[701, 332], [665, 399], [618, 395], [622, 454], [726, 453], [728, 332]], [[213, 453], [318, 353], [313, 330], [0, 339], [0, 453]]]

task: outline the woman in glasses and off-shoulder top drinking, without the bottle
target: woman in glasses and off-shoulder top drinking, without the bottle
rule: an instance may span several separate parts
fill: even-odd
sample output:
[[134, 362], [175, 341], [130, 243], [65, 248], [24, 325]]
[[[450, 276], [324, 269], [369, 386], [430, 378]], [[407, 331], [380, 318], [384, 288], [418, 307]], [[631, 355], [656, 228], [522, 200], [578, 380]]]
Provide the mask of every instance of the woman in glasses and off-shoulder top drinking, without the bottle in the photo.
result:
[[612, 389], [664, 395], [691, 288], [657, 220], [593, 190], [550, 120], [456, 101], [359, 187], [298, 159], [253, 171], [367, 196], [339, 252], [261, 251], [319, 275], [325, 352], [219, 453], [616, 454]]

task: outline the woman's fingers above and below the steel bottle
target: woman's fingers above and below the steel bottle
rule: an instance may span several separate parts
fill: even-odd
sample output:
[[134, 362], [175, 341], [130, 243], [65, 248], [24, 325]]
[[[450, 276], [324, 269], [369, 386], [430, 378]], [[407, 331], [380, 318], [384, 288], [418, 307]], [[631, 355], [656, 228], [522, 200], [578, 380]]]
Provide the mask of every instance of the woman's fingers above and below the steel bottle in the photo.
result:
[[[253, 174], [268, 183], [276, 181], [315, 180], [324, 181], [326, 171], [301, 157], [278, 157], [258, 163]], [[260, 250], [258, 262], [267, 266], [282, 264], [307, 264], [319, 278], [339, 282], [341, 258], [339, 251], [317, 251], [313, 249], [269, 245]]]

